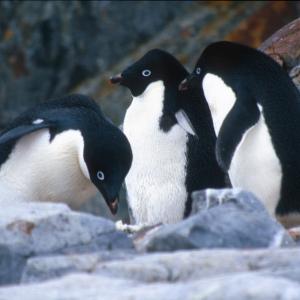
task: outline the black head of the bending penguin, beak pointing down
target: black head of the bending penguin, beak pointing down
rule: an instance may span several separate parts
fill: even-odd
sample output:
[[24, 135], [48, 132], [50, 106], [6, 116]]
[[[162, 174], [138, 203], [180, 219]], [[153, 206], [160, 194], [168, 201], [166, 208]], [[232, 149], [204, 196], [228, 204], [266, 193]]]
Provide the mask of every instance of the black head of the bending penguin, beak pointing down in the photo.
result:
[[112, 214], [118, 209], [118, 194], [132, 163], [132, 152], [126, 136], [113, 125], [103, 129], [101, 136], [84, 138], [81, 163], [84, 175], [103, 195]]

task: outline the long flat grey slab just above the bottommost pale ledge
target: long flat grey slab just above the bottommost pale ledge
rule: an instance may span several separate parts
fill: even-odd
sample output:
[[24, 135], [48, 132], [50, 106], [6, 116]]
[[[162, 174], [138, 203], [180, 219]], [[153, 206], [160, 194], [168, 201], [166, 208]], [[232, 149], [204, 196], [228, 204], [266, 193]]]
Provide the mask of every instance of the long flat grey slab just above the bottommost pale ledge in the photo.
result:
[[22, 282], [39, 282], [73, 272], [88, 272], [141, 282], [202, 280], [253, 272], [300, 283], [300, 252], [295, 249], [185, 250], [145, 255], [94, 253], [28, 260]]

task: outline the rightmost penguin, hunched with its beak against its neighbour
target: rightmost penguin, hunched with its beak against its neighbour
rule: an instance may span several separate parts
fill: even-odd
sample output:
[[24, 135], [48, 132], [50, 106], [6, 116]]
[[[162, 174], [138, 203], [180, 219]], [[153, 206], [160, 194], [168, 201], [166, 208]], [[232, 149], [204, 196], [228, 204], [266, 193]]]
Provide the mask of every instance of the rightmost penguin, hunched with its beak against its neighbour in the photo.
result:
[[285, 226], [300, 224], [300, 95], [288, 74], [258, 50], [217, 42], [181, 89], [194, 84], [203, 88], [232, 185], [254, 192]]

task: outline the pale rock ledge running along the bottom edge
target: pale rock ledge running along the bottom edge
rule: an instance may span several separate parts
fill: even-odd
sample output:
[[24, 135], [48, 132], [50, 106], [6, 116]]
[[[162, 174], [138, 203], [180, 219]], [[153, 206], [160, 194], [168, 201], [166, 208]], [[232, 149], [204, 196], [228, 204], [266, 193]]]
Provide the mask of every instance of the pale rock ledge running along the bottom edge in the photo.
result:
[[299, 295], [300, 285], [296, 282], [249, 273], [216, 277], [213, 280], [152, 284], [74, 274], [45, 283], [0, 288], [2, 300], [298, 300]]

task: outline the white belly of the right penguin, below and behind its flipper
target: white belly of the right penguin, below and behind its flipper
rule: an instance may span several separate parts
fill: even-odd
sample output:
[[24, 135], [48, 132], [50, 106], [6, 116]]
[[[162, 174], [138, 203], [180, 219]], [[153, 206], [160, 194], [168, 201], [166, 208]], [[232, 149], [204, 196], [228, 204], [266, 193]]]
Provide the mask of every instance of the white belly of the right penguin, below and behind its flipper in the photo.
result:
[[282, 170], [262, 115], [238, 145], [229, 176], [234, 187], [253, 192], [274, 215], [280, 197]]

